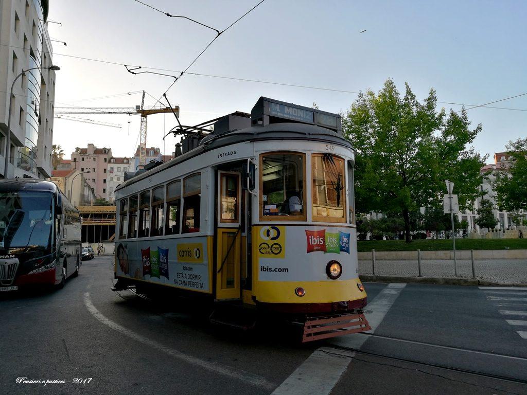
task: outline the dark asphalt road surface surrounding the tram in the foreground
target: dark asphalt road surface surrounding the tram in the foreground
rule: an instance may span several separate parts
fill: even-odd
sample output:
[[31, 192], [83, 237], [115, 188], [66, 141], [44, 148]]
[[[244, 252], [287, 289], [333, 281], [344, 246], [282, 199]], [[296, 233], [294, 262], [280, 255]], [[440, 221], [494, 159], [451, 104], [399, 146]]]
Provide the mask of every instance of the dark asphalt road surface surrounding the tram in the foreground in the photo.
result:
[[527, 288], [366, 284], [373, 334], [302, 345], [284, 328], [213, 328], [187, 302], [112, 281], [96, 257], [63, 290], [1, 294], [0, 393], [527, 393], [489, 377], [527, 383]]

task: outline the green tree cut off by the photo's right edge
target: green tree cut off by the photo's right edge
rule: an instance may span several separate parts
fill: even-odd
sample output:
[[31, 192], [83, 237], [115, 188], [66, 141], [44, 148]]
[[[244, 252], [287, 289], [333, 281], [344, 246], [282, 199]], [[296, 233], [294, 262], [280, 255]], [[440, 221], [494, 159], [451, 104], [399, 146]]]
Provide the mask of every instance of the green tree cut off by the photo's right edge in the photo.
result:
[[497, 205], [504, 211], [527, 209], [527, 139], [510, 141], [506, 145], [510, 167], [495, 171]]

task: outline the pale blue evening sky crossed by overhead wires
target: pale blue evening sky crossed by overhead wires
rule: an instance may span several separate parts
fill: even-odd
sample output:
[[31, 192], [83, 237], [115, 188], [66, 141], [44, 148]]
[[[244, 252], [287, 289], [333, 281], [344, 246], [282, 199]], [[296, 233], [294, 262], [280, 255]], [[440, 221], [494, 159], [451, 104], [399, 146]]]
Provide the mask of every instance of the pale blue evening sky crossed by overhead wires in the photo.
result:
[[[144, 0], [219, 31], [258, 2]], [[170, 71], [158, 72], [178, 76], [216, 36], [212, 29], [135, 0], [51, 0], [48, 19], [62, 24], [49, 23], [50, 36], [67, 43], [52, 43], [53, 62], [61, 67], [55, 107], [135, 107], [141, 93], [127, 93], [143, 90], [145, 106], [152, 106], [174, 78], [132, 75], [123, 65], [163, 68]], [[417, 98], [434, 88], [438, 101], [470, 107], [527, 93], [526, 20], [523, 0], [265, 0], [220, 35], [188, 71], [350, 92], [378, 91], [392, 78], [401, 92], [408, 83]], [[357, 94], [191, 74], [167, 93], [170, 103], [180, 106], [184, 125], [250, 112], [260, 96], [305, 106], [316, 102], [320, 110], [340, 112]], [[467, 111], [471, 127], [483, 126], [473, 146], [490, 155], [487, 163], [508, 141], [527, 137], [527, 95], [492, 106], [515, 110]], [[457, 104], [440, 107], [461, 110]], [[122, 127], [55, 119], [53, 143], [62, 146], [66, 159], [88, 143], [110, 147], [114, 156], [133, 156], [138, 115], [74, 116]], [[147, 146], [171, 154], [180, 137], [163, 136], [176, 124], [171, 114], [150, 115]]]

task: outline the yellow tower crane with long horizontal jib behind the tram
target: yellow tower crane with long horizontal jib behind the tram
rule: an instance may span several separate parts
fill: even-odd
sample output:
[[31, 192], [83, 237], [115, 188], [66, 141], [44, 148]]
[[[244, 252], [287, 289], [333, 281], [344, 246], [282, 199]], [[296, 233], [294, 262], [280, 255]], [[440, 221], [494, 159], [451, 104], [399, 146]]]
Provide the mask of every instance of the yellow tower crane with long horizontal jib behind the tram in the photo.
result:
[[[128, 114], [141, 115], [141, 141], [139, 143], [139, 165], [144, 166], [147, 162], [147, 116], [152, 114], [173, 113], [179, 117], [179, 106], [167, 107], [163, 105], [154, 105], [144, 108], [144, 94], [141, 99], [141, 105], [133, 107], [55, 107], [55, 114]], [[89, 120], [90, 121], [90, 120]], [[82, 121], [80, 121], [82, 122]], [[92, 121], [93, 122], [93, 121]], [[91, 122], [88, 122], [91, 123]], [[109, 126], [109, 125], [106, 125]]]

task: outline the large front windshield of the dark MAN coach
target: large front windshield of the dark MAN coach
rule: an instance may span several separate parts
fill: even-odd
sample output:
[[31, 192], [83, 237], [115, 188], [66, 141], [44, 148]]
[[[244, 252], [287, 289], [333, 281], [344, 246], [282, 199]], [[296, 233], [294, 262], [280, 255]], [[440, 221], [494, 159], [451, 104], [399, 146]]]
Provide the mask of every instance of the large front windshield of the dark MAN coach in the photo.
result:
[[50, 248], [52, 208], [49, 192], [0, 192], [0, 248]]

